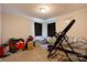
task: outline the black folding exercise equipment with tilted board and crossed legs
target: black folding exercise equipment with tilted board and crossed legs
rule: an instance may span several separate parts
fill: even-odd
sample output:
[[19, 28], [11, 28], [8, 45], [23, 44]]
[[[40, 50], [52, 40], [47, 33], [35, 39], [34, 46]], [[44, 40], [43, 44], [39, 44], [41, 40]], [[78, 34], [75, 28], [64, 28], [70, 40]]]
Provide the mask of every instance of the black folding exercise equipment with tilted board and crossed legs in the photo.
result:
[[[80, 61], [80, 62], [87, 59], [87, 56], [75, 52], [74, 48], [72, 47], [70, 43], [68, 42], [68, 37], [67, 37], [66, 33], [69, 31], [69, 29], [73, 26], [74, 23], [75, 23], [75, 19], [73, 19], [70, 21], [70, 23], [62, 32], [59, 32], [59, 33], [55, 32], [56, 41], [55, 41], [54, 45], [48, 45], [47, 46], [48, 47], [48, 50], [47, 50], [48, 51], [47, 58], [50, 58], [51, 56], [55, 55], [57, 50], [58, 50], [58, 51], [64, 52], [66, 57], [70, 62], [73, 59], [70, 58], [70, 56], [68, 54], [74, 54], [78, 58], [78, 61]], [[67, 43], [67, 45], [69, 46], [70, 50], [64, 48], [64, 46], [63, 46], [63, 42], [64, 41]], [[83, 57], [85, 59], [80, 59], [80, 57]]]

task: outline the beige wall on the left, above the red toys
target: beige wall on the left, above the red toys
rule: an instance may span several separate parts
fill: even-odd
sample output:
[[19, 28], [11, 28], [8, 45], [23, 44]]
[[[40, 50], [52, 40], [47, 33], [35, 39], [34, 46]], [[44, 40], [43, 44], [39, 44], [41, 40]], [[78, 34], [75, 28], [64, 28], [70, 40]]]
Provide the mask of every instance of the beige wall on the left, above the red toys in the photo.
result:
[[2, 41], [10, 37], [28, 37], [31, 32], [31, 19], [12, 14], [2, 14]]

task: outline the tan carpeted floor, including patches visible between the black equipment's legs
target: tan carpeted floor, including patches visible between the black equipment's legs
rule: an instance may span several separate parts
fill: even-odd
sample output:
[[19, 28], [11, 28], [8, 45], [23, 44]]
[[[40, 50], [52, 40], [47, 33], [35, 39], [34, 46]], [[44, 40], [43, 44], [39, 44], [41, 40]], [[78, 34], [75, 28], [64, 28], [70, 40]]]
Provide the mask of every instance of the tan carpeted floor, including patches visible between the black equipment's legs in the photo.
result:
[[[19, 51], [14, 54], [11, 54], [10, 56], [8, 57], [3, 57], [2, 61], [3, 62], [66, 62], [68, 61], [66, 55], [58, 51], [57, 52], [57, 56], [55, 58], [51, 58], [48, 59], [47, 58], [47, 45], [41, 45], [41, 44], [37, 44], [33, 50], [31, 51]], [[77, 51], [77, 50], [75, 50]], [[85, 50], [79, 50], [77, 52], [80, 52], [80, 53], [85, 53]], [[72, 59], [76, 59], [77, 61], [77, 57], [76, 56], [73, 56], [69, 54], [69, 56], [72, 57]]]

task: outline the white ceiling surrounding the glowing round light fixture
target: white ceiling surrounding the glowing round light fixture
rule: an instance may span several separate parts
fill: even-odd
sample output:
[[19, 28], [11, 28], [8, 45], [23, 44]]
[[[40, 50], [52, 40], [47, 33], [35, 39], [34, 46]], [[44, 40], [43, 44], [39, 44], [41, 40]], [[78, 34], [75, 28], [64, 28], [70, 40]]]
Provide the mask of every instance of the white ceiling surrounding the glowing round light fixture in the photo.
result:
[[[40, 8], [43, 7], [47, 9], [45, 13], [40, 12]], [[86, 8], [86, 3], [9, 3], [2, 4], [2, 12], [39, 19], [50, 19]]]

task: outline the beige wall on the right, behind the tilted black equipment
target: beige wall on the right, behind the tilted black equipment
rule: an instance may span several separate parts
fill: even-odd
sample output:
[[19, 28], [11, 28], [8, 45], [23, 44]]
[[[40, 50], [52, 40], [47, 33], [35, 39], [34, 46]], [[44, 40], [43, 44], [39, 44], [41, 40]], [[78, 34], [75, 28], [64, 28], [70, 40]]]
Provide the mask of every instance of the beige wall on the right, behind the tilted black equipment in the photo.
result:
[[62, 31], [72, 19], [75, 19], [76, 22], [68, 31], [67, 35], [87, 39], [87, 9], [58, 17], [56, 22], [56, 31]]

